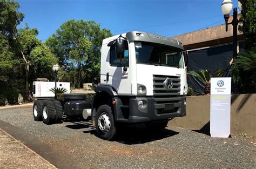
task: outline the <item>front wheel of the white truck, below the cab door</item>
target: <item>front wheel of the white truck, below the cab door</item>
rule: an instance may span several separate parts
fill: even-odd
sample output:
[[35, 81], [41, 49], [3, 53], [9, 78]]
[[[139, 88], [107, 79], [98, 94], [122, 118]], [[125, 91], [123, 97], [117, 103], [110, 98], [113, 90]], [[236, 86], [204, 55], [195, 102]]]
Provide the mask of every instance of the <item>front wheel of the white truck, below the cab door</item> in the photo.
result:
[[96, 131], [100, 138], [111, 140], [116, 134], [116, 126], [111, 107], [102, 105], [98, 108], [95, 117]]

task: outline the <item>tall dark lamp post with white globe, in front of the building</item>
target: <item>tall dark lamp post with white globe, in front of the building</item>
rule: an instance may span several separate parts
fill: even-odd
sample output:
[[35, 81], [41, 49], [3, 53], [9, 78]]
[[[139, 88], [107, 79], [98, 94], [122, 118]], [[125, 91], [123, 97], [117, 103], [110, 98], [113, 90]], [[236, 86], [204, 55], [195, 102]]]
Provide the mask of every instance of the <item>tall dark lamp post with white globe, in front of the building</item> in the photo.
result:
[[[241, 10], [241, 3], [238, 2], [239, 9]], [[226, 23], [226, 31], [228, 30], [228, 25], [233, 25], [233, 60], [237, 58], [237, 26], [238, 26], [238, 19], [237, 19], [237, 8], [233, 9], [233, 21], [228, 23], [228, 18], [230, 18], [230, 12], [233, 8], [232, 0], [224, 0], [221, 3], [221, 11], [224, 15], [225, 23]]]

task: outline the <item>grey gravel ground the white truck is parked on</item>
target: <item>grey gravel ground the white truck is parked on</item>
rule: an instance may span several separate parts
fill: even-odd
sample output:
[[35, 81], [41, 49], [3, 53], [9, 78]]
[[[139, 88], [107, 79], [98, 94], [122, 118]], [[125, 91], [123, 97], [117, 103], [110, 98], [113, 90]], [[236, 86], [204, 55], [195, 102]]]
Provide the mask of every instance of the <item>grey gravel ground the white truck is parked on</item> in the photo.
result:
[[211, 138], [179, 127], [152, 132], [138, 125], [106, 141], [86, 121], [34, 121], [32, 107], [0, 110], [0, 127], [59, 168], [256, 168], [255, 138]]

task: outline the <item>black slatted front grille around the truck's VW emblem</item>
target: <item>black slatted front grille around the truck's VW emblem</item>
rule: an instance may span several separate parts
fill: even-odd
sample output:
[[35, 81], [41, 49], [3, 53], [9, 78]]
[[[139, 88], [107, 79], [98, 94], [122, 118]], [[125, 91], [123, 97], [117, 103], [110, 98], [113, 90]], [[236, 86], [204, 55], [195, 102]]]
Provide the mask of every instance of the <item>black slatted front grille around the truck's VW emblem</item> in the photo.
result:
[[[173, 87], [167, 91], [164, 87], [164, 81], [170, 78], [173, 82]], [[180, 96], [180, 77], [153, 75], [153, 96], [154, 107], [158, 114], [177, 112], [181, 107]]]

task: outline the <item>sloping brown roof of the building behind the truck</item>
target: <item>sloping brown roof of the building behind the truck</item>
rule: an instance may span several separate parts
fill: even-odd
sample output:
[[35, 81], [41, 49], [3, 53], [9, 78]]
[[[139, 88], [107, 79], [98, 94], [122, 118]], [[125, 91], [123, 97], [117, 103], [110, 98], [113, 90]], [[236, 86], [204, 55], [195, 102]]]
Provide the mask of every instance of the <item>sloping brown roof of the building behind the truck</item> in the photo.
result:
[[[232, 20], [233, 16], [228, 19], [228, 23], [231, 23]], [[172, 38], [181, 41], [186, 50], [231, 43], [233, 42], [233, 26], [231, 24], [228, 25], [227, 32], [225, 24], [222, 24], [203, 30], [174, 36]], [[244, 39], [244, 35], [242, 35], [242, 32], [238, 31], [238, 40], [242, 39]]]

